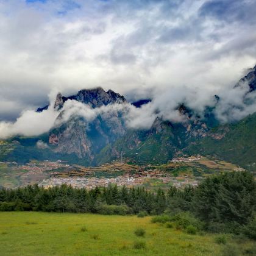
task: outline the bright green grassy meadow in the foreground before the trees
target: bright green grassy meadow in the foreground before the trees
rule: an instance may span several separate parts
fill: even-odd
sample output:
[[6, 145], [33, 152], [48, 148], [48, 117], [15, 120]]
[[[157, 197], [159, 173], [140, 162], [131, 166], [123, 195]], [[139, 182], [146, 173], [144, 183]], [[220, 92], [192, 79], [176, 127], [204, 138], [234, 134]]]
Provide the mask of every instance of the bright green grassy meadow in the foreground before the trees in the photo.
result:
[[[143, 237], [135, 235], [138, 227], [146, 230]], [[168, 229], [151, 217], [0, 212], [2, 256], [221, 255], [215, 237]]]

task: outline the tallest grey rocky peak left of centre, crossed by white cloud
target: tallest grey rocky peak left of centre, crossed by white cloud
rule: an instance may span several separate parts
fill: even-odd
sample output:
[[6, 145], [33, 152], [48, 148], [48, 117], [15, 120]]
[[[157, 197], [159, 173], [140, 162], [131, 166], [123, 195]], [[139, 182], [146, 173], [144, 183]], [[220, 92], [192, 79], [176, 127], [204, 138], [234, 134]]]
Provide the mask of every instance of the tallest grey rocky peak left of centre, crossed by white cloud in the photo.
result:
[[[91, 108], [108, 104], [123, 104], [126, 99], [112, 90], [105, 92], [102, 88], [82, 90], [76, 96], [68, 98], [60, 93], [57, 95], [54, 107], [61, 110], [68, 99], [87, 104]], [[59, 119], [65, 110], [62, 110]], [[93, 121], [86, 121], [80, 116], [74, 116], [68, 122], [62, 123], [51, 130], [49, 143], [54, 146], [54, 152], [75, 154], [93, 162], [95, 155], [108, 144], [113, 143], [126, 132], [121, 113], [113, 109], [111, 112], [98, 115]]]

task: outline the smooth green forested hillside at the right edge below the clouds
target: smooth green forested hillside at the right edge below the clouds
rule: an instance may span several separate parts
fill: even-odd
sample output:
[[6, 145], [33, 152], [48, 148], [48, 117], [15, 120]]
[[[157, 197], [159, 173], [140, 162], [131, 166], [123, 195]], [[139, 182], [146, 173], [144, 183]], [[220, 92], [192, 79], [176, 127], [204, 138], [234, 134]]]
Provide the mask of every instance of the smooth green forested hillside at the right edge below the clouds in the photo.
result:
[[208, 136], [191, 143], [187, 154], [210, 154], [241, 166], [256, 163], [256, 113], [236, 124], [212, 129]]

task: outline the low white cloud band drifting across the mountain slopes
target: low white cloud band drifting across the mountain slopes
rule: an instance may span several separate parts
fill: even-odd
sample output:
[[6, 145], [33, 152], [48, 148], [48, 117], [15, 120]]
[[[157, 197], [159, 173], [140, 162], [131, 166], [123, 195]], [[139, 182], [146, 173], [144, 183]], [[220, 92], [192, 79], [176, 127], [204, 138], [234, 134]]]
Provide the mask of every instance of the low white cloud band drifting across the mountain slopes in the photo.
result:
[[[213, 113], [221, 123], [238, 121], [256, 110], [256, 91], [249, 92], [246, 82], [241, 82], [228, 90], [220, 90], [219, 99], [213, 95], [208, 97], [204, 90], [191, 90], [188, 87], [157, 91], [152, 101], [140, 108], [130, 103], [91, 108], [90, 105], [68, 99], [63, 107], [57, 110], [53, 107], [54, 97], [50, 99], [51, 104], [43, 112], [26, 110], [15, 122], [1, 122], [0, 138], [40, 135], [77, 116], [90, 123], [99, 115], [107, 119], [109, 116], [115, 116], [116, 113], [121, 113], [128, 129], [149, 129], [157, 117], [174, 123], [185, 121], [185, 116], [177, 109], [180, 104], [185, 104], [193, 110], [194, 116], [203, 116], [205, 108], [214, 107]], [[46, 145], [39, 142], [37, 146], [42, 148]]]

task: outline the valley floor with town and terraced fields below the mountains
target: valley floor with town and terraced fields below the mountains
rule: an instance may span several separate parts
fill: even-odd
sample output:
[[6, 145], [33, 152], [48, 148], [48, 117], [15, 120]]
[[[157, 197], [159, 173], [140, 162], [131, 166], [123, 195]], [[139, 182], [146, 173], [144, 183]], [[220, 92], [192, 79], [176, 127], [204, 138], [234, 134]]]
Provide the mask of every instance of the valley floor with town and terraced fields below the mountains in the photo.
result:
[[25, 165], [0, 162], [0, 185], [6, 188], [38, 185], [44, 188], [67, 184], [76, 188], [144, 186], [148, 190], [168, 189], [173, 185], [196, 186], [205, 177], [225, 171], [243, 171], [238, 165], [215, 157], [179, 157], [166, 164], [138, 165], [132, 158], [113, 161], [97, 167], [71, 165], [58, 160], [32, 160]]

